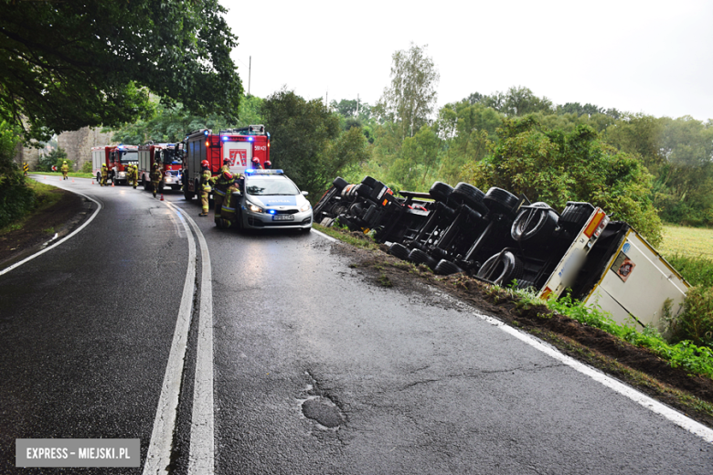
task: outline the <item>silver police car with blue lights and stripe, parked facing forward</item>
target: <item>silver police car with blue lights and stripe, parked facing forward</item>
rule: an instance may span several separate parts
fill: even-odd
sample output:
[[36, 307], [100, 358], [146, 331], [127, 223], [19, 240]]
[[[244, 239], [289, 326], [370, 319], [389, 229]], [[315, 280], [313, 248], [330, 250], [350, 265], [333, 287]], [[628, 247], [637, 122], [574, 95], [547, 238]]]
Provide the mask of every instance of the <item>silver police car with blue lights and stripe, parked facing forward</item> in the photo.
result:
[[240, 224], [246, 229], [312, 229], [312, 205], [282, 170], [246, 170]]

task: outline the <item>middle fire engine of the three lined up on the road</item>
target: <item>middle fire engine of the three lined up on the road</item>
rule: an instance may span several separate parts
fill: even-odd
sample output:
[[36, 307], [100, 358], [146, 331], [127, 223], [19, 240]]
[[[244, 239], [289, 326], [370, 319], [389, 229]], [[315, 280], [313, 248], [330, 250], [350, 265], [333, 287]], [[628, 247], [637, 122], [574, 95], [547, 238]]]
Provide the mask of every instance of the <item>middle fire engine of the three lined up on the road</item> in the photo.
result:
[[181, 188], [181, 170], [183, 168], [183, 143], [147, 143], [139, 146], [139, 182], [144, 190], [151, 190], [151, 167], [157, 163], [161, 170], [159, 193], [165, 186], [172, 190]]

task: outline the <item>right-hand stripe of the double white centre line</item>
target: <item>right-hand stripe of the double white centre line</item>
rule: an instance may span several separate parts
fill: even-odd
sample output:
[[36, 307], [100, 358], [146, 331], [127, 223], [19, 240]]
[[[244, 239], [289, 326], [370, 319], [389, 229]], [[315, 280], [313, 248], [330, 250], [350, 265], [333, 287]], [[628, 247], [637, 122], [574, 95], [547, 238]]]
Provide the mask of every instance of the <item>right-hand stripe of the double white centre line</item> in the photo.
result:
[[201, 269], [200, 312], [198, 318], [198, 343], [196, 352], [196, 379], [193, 385], [193, 414], [191, 416], [191, 441], [188, 455], [189, 475], [212, 475], [215, 464], [215, 435], [213, 416], [213, 270], [206, 238], [196, 222], [186, 216], [196, 231], [200, 245]]

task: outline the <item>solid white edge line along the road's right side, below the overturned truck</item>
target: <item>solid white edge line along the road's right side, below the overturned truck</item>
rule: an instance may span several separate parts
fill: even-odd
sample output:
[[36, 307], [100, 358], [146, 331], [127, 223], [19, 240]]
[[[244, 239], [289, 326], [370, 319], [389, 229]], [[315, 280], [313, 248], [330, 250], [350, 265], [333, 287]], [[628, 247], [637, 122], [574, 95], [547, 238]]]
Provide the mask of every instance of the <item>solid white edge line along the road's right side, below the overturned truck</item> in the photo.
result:
[[599, 371], [598, 369], [588, 366], [587, 364], [582, 364], [574, 358], [571, 358], [566, 354], [560, 353], [559, 350], [557, 350], [553, 346], [548, 345], [548, 343], [542, 342], [541, 340], [530, 335], [529, 333], [522, 332], [521, 330], [511, 327], [510, 325], [496, 319], [495, 317], [490, 317], [482, 313], [478, 313], [477, 311], [473, 311], [473, 307], [471, 307], [467, 303], [463, 301], [458, 301], [450, 295], [442, 293], [442, 291], [440, 290], [434, 290], [434, 293], [438, 293], [443, 298], [456, 303], [462, 308], [467, 309], [467, 311], [471, 311], [479, 319], [498, 327], [503, 332], [514, 336], [521, 342], [529, 344], [540, 352], [548, 354], [548, 356], [556, 359], [560, 363], [567, 364], [570, 368], [579, 371], [581, 374], [590, 376], [591, 379], [593, 379], [594, 381], [609, 387], [610, 389], [619, 393], [622, 396], [628, 397], [633, 402], [646, 407], [647, 409], [653, 411], [655, 414], [665, 417], [669, 421], [676, 424], [676, 426], [686, 429], [688, 432], [695, 434], [699, 438], [703, 438], [708, 443], [713, 443], [713, 429], [704, 426], [703, 424], [691, 419], [690, 417], [684, 416], [675, 409], [672, 409], [669, 406], [665, 406], [664, 404], [656, 401], [655, 399], [637, 391], [633, 387], [625, 385], [622, 382], [617, 381], [616, 379], [605, 375], [604, 373], [601, 373], [601, 371]]

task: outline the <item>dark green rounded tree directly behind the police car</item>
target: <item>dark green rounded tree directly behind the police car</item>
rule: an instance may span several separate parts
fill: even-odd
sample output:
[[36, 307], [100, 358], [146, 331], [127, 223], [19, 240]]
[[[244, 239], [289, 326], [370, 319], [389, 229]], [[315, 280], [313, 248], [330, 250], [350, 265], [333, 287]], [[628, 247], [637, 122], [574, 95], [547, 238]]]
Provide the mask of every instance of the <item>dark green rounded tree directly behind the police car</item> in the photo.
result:
[[271, 133], [273, 166], [282, 168], [313, 200], [340, 171], [368, 158], [361, 130], [340, 131], [339, 120], [322, 100], [308, 101], [280, 90], [263, 101], [261, 113]]

